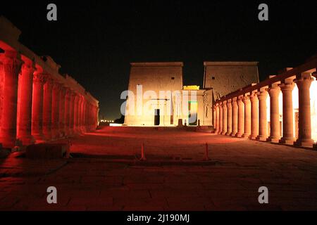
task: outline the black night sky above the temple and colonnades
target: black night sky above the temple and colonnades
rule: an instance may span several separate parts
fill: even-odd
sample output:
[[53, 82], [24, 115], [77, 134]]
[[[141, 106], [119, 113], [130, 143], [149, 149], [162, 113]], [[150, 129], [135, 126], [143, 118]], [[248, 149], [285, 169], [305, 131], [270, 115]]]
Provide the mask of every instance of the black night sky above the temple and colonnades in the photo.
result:
[[[46, 20], [49, 3], [56, 22]], [[96, 97], [105, 119], [120, 117], [130, 62], [182, 61], [184, 84], [202, 86], [204, 60], [259, 61], [263, 80], [317, 53], [313, 1], [1, 1], [0, 14]]]

